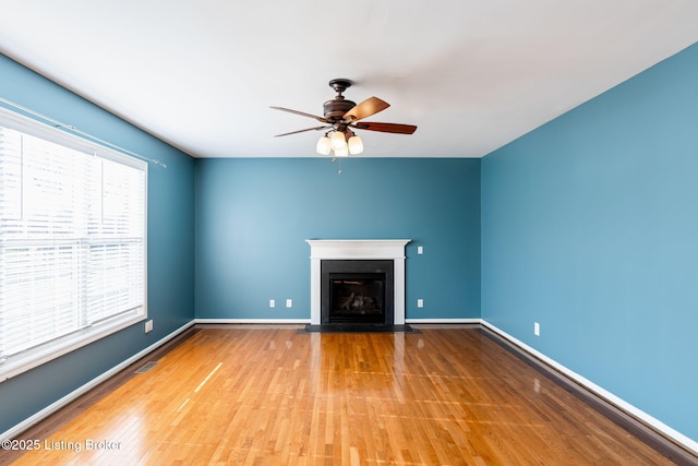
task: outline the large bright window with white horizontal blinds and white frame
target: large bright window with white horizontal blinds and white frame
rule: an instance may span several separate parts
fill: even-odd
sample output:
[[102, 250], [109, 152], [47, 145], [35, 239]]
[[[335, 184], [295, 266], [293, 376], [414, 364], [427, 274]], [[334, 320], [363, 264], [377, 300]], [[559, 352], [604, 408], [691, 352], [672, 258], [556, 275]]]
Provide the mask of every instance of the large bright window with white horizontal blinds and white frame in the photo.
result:
[[0, 111], [0, 381], [146, 316], [147, 164]]

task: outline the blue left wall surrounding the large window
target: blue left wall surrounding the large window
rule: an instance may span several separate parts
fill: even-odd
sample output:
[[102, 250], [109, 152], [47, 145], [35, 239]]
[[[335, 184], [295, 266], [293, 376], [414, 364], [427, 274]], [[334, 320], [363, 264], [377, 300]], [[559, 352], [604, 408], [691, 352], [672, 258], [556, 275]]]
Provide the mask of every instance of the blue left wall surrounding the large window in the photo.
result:
[[148, 318], [143, 324], [0, 383], [0, 433], [190, 322], [194, 316], [194, 160], [0, 55], [0, 96], [127, 150], [148, 167]]

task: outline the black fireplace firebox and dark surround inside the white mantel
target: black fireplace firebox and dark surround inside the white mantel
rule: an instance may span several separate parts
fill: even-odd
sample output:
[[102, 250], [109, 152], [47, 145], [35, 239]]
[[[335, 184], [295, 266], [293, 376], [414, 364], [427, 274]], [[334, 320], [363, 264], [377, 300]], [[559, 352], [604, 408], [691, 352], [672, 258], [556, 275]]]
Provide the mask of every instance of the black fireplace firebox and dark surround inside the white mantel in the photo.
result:
[[321, 261], [321, 323], [394, 322], [393, 261]]

